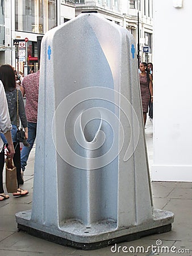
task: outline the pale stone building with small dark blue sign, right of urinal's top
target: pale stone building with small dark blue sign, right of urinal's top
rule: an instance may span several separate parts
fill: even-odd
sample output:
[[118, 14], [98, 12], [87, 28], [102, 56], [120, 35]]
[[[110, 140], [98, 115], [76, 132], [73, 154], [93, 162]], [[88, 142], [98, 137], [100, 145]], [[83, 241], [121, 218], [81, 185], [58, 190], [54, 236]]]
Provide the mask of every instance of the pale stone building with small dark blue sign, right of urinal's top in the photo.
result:
[[94, 11], [127, 28], [136, 40], [139, 61], [152, 62], [153, 0], [74, 0], [76, 15]]

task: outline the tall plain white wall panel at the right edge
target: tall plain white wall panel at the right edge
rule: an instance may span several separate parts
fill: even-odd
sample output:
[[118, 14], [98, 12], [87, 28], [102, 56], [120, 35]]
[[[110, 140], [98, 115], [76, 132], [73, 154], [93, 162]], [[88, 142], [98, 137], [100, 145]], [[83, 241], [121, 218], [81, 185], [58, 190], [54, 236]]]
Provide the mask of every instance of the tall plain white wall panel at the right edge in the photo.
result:
[[192, 180], [192, 1], [154, 1], [154, 164], [152, 180]]

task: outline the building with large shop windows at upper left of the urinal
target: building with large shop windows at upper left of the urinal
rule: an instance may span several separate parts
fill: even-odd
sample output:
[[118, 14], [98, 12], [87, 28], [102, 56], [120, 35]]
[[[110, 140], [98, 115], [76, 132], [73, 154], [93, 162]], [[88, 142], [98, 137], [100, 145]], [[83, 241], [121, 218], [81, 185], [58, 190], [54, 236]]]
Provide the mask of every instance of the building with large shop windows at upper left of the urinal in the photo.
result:
[[74, 2], [66, 0], [1, 0], [0, 65], [19, 72], [37, 71], [37, 36], [74, 18]]

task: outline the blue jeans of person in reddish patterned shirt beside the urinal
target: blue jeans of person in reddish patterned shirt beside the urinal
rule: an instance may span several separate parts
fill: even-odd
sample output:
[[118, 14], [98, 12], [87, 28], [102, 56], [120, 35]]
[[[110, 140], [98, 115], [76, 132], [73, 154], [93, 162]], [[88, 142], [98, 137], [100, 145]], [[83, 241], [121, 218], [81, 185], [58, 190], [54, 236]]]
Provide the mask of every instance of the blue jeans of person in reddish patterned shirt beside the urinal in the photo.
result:
[[28, 156], [30, 155], [31, 148], [34, 146], [36, 131], [37, 131], [37, 124], [28, 122], [27, 142], [30, 144], [30, 147], [23, 146], [22, 152], [20, 153], [20, 163], [23, 171], [26, 169]]

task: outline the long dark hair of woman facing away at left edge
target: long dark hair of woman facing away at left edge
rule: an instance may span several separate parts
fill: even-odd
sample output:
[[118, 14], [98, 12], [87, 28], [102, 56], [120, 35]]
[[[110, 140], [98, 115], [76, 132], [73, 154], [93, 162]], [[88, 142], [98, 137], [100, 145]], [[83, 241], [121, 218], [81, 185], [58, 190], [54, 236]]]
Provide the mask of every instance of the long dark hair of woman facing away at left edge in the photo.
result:
[[15, 72], [9, 64], [1, 65], [0, 67], [0, 80], [3, 83], [5, 91], [12, 92], [16, 88]]

